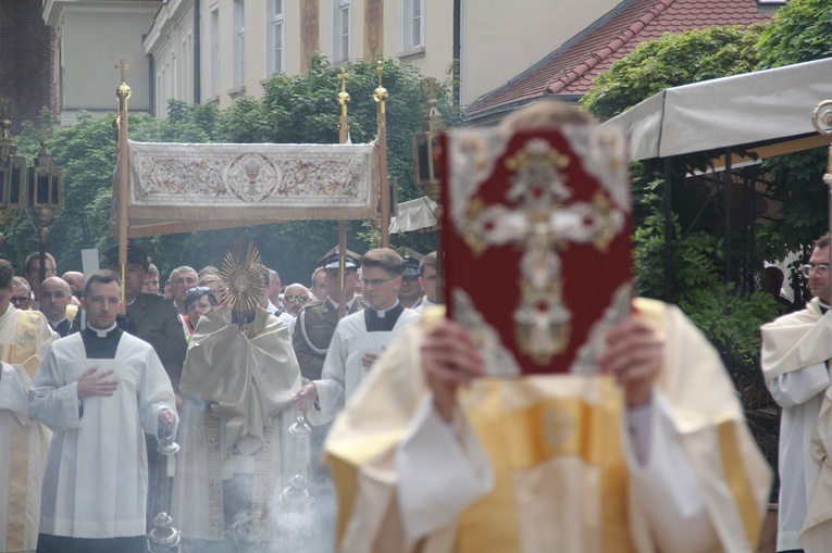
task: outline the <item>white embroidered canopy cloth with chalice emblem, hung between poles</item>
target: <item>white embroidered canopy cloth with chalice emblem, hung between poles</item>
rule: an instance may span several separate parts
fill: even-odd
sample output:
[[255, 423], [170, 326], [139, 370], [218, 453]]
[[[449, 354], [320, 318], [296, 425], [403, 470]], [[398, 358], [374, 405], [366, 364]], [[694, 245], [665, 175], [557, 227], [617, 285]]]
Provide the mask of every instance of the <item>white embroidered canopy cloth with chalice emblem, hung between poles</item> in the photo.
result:
[[[127, 236], [375, 216], [378, 146], [129, 142]], [[112, 234], [119, 187], [113, 187]]]

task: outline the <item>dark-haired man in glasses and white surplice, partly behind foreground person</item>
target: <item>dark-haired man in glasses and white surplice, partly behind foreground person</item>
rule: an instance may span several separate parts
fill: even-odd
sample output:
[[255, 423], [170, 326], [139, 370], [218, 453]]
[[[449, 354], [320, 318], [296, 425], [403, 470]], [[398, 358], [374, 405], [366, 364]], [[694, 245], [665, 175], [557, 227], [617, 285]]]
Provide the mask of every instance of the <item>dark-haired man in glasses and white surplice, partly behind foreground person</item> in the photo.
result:
[[340, 319], [324, 360], [322, 378], [307, 384], [295, 398], [314, 425], [332, 422], [359, 389], [384, 349], [419, 321], [401, 306], [398, 290], [405, 272], [401, 255], [389, 248], [361, 257], [364, 300], [369, 307]]

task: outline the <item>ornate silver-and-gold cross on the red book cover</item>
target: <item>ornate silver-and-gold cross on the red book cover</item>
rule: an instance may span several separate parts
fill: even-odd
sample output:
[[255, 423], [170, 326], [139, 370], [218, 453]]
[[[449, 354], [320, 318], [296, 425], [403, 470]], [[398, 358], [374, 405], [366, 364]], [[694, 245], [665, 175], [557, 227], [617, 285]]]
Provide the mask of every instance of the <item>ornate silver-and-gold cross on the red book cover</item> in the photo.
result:
[[520, 304], [514, 309], [520, 350], [548, 364], [569, 344], [572, 313], [563, 302], [558, 251], [593, 243], [605, 251], [624, 226], [624, 214], [597, 191], [591, 202], [570, 202], [573, 191], [562, 173], [570, 163], [547, 140], [530, 139], [506, 161], [512, 172], [506, 204], [468, 208], [462, 236], [475, 254], [490, 246], [514, 244], [520, 261]]

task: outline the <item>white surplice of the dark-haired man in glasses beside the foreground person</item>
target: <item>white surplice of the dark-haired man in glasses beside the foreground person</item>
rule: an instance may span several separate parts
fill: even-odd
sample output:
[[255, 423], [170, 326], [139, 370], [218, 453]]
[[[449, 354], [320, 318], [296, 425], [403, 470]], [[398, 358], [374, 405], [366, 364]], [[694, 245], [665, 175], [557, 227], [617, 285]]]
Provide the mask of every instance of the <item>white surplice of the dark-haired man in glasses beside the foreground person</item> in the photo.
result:
[[321, 380], [314, 381], [320, 411], [311, 410], [308, 413], [313, 425], [332, 422], [361, 386], [370, 372], [370, 367], [365, 367], [361, 361], [365, 353], [381, 355], [403, 329], [420, 319], [418, 313], [406, 309], [393, 330], [371, 332], [367, 329], [364, 317], [364, 312], [353, 313], [340, 319], [335, 327]]

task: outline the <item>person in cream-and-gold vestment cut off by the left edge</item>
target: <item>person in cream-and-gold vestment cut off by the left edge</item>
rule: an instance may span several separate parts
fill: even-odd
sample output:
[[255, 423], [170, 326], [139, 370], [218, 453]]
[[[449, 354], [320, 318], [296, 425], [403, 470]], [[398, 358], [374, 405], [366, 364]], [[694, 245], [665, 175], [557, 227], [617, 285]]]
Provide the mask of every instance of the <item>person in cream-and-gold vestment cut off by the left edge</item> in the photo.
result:
[[29, 415], [29, 382], [52, 342], [46, 317], [10, 305], [12, 264], [0, 260], [0, 551], [34, 550], [52, 433]]

